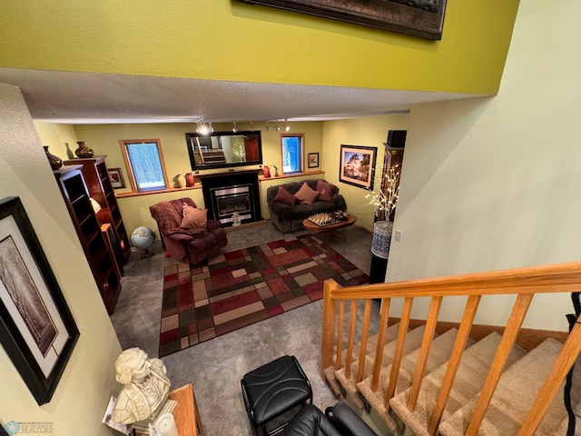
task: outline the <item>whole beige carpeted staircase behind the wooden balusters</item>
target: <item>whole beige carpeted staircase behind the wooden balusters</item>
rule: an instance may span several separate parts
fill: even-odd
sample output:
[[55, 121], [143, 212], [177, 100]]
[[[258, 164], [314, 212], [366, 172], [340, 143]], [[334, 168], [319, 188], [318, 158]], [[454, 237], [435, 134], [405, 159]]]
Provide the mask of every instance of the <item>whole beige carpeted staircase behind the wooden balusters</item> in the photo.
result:
[[[395, 395], [389, 401], [389, 411], [386, 411], [384, 400], [389, 386], [391, 363], [398, 331], [399, 324], [396, 324], [390, 326], [385, 332], [385, 347], [377, 391], [371, 391], [370, 386], [370, 372], [375, 361], [379, 337], [377, 334], [369, 336], [367, 342], [362, 381], [356, 382], [359, 372], [359, 344], [353, 346], [349, 374], [346, 373], [345, 365], [337, 371], [332, 366], [326, 368], [323, 370], [323, 374], [336, 395], [347, 396], [361, 410], [370, 408], [377, 412], [394, 434], [428, 435], [430, 416], [438, 398], [457, 330], [451, 329], [439, 336], [434, 335], [425, 376], [419, 390], [419, 400], [414, 411], [408, 409], [409, 391], [416, 371], [419, 347], [425, 327], [421, 326], [408, 332], [399, 367]], [[465, 434], [471, 413], [478, 400], [478, 393], [487, 378], [487, 372], [497, 352], [500, 340], [501, 336], [496, 332], [489, 333], [478, 342], [468, 339], [436, 434], [443, 436]], [[478, 435], [509, 436], [517, 434], [561, 348], [562, 344], [554, 339], [541, 342], [530, 352], [525, 352], [518, 345], [512, 348], [508, 354], [504, 372], [497, 384], [497, 389], [480, 425]], [[345, 362], [346, 357], [346, 352], [342, 352], [341, 362]], [[535, 434], [565, 435], [567, 421], [563, 387], [561, 386]]]

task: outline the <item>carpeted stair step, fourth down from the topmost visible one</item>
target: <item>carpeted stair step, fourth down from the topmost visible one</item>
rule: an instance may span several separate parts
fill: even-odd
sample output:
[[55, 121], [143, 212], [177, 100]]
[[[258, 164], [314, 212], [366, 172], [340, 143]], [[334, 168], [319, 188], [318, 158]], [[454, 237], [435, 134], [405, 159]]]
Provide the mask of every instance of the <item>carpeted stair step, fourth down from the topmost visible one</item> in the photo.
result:
[[[412, 330], [411, 332], [408, 332], [408, 334], [406, 335], [406, 342], [404, 342], [404, 347], [403, 347], [404, 354], [406, 354], [408, 352], [412, 352], [413, 350], [417, 349], [421, 345], [421, 341], [424, 337], [425, 330], [426, 330], [426, 327], [424, 325], [421, 325], [418, 328]], [[377, 340], [376, 340], [375, 344], [377, 346]], [[383, 360], [381, 362], [382, 365], [387, 366], [387, 365], [390, 365], [391, 362], [393, 362], [393, 354], [395, 352], [396, 344], [397, 344], [397, 341], [390, 341], [390, 342], [387, 342], [385, 344], [385, 347], [383, 349], [384, 350]], [[366, 358], [365, 358], [365, 366], [364, 366], [364, 371], [363, 371], [364, 378], [369, 377], [369, 375], [371, 375], [371, 373], [373, 372], [373, 363], [375, 361], [375, 352], [376, 352], [375, 346], [370, 351], [369, 344], [368, 344], [367, 352], [368, 353], [367, 353]], [[356, 381], [358, 370], [359, 370], [359, 364], [356, 360], [351, 365], [351, 376], [349, 378], [346, 377], [346, 375], [345, 375], [345, 368], [340, 368], [340, 370], [335, 372], [335, 376], [337, 377], [337, 380], [340, 382], [341, 386], [343, 386], [343, 389], [345, 389], [345, 391], [350, 393], [350, 395], [352, 395], [355, 398], [357, 398], [357, 393], [358, 393], [357, 381]], [[359, 401], [359, 399], [357, 399], [356, 402], [358, 402], [359, 409], [363, 409], [363, 402]]]

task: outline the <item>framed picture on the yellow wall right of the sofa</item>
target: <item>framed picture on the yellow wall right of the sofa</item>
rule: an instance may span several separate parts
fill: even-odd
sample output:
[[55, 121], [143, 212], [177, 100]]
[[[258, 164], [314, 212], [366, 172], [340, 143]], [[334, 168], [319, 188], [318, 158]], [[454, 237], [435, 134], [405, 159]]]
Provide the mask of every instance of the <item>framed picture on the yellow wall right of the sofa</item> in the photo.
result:
[[341, 144], [339, 181], [373, 190], [373, 169], [378, 147]]

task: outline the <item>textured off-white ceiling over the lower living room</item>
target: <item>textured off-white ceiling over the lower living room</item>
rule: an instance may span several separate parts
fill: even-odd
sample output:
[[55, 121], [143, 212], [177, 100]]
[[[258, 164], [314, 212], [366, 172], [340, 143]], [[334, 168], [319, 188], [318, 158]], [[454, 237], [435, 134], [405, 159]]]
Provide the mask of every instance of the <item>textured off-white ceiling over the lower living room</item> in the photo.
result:
[[314, 121], [405, 113], [474, 94], [0, 68], [35, 120], [66, 124]]

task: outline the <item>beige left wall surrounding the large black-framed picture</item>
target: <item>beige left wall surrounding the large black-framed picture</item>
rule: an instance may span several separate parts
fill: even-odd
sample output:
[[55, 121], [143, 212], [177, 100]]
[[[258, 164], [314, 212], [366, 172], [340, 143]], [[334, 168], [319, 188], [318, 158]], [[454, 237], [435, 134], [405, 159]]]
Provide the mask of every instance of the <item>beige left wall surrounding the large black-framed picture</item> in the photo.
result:
[[[52, 422], [54, 434], [113, 434], [101, 420], [118, 390], [121, 352], [93, 275], [20, 91], [0, 84], [0, 197], [19, 196], [81, 332], [52, 401], [38, 406], [0, 347], [0, 411], [6, 421]], [[71, 135], [73, 136], [73, 135]]]

